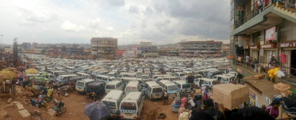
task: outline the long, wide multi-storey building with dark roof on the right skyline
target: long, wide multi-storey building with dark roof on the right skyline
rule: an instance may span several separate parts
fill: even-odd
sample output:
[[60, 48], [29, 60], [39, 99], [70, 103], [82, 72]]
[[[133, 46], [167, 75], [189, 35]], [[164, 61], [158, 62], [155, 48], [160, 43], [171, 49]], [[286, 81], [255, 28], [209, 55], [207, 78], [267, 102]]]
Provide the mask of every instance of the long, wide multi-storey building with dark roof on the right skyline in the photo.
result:
[[219, 56], [222, 44], [214, 40], [179, 42], [182, 56]]

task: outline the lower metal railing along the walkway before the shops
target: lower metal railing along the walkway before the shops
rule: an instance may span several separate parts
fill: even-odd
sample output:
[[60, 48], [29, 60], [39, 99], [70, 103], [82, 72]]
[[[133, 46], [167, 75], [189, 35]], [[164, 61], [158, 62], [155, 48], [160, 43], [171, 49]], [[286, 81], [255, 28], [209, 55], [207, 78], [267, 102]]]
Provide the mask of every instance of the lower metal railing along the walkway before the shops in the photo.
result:
[[[269, 71], [269, 70], [271, 69], [271, 68], [268, 68], [268, 67], [265, 67], [265, 66], [262, 66], [262, 65], [261, 65], [261, 64], [264, 64], [264, 63], [265, 63], [265, 64], [269, 64], [269, 63], [267, 63], [267, 62], [256, 60], [256, 61], [257, 61], [257, 65], [255, 65], [256, 63], [250, 62], [250, 61], [253, 61], [254, 59], [249, 59], [249, 62], [246, 62], [246, 61], [245, 61], [245, 60], [246, 60], [245, 57], [240, 57], [240, 58], [241, 58], [240, 61], [238, 60], [238, 57], [239, 57], [239, 56], [234, 56], [233, 63], [236, 64], [236, 65], [239, 64], [239, 65], [240, 65], [241, 67], [243, 67], [243, 68], [250, 68], [251, 70], [254, 70], [255, 67], [257, 66], [257, 68], [260, 67], [260, 68], [263, 68], [263, 69], [267, 69], [267, 71]], [[248, 63], [248, 65], [247, 65], [247, 63]], [[250, 65], [251, 65], [251, 67], [250, 67]], [[282, 70], [283, 68], [290, 69], [290, 71], [291, 71], [291, 70], [296, 70], [296, 69], [294, 69], [294, 68], [285, 67], [285, 66], [281, 66], [281, 65], [277, 65], [277, 64], [270, 64], [270, 65], [278, 66], [278, 67], [280, 68], [280, 70]], [[254, 66], [254, 68], [253, 68], [253, 66]], [[268, 75], [268, 74], [266, 73], [266, 71], [259, 71], [259, 70], [258, 70], [258, 73], [259, 73], [259, 72]], [[294, 78], [296, 78], [296, 76], [290, 75], [289, 73], [284, 73], [284, 74], [285, 74], [286, 76], [290, 76], [290, 77], [294, 77]], [[275, 77], [277, 77], [277, 76], [275, 76]], [[278, 77], [277, 77], [277, 78], [278, 78]], [[283, 81], [285, 81], [285, 82], [288, 82], [288, 83], [290, 83], [290, 84], [292, 84], [292, 85], [296, 85], [295, 83], [292, 83], [292, 82], [287, 81], [287, 77], [281, 77], [281, 78], [278, 78], [278, 79], [283, 80]], [[295, 81], [295, 82], [296, 82], [296, 81]]]

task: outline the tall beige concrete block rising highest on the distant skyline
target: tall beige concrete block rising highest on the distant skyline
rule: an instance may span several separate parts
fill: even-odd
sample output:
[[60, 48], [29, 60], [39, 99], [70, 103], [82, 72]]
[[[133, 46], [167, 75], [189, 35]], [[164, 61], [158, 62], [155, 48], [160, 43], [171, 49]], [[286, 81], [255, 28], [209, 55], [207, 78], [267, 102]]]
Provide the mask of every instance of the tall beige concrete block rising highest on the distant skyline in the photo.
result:
[[106, 55], [115, 56], [117, 41], [117, 38], [91, 38], [91, 54], [101, 57]]

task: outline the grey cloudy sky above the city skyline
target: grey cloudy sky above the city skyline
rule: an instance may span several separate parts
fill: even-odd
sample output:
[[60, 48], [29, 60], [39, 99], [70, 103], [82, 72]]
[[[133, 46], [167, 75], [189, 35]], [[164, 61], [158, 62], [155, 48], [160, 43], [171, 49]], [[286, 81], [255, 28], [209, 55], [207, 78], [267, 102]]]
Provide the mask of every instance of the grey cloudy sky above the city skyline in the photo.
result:
[[229, 43], [230, 0], [0, 0], [0, 43], [216, 40]]

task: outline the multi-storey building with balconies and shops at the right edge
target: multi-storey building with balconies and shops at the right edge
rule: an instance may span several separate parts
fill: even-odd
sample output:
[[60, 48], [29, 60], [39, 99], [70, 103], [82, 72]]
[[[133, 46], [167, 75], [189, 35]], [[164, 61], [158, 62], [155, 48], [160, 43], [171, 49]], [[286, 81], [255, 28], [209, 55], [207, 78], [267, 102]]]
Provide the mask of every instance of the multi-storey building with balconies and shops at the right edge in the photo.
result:
[[[273, 56], [277, 61], [276, 66], [285, 73], [285, 77], [275, 76], [275, 83], [283, 82], [295, 88], [295, 0], [277, 1], [231, 0], [230, 54], [234, 55], [234, 60], [230, 60], [230, 64], [242, 76], [252, 76], [256, 74], [254, 65], [244, 64], [245, 59], [242, 58], [250, 56], [249, 62], [258, 63], [261, 73], [268, 76], [267, 71], [274, 66], [269, 64]], [[247, 84], [254, 98], [248, 101], [251, 106], [269, 105], [273, 95], [279, 94], [273, 91], [273, 85], [267, 86], [265, 82], [265, 87], [256, 87], [248, 80]]]

